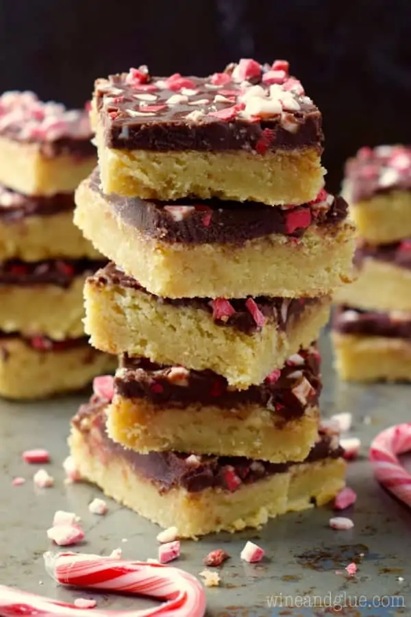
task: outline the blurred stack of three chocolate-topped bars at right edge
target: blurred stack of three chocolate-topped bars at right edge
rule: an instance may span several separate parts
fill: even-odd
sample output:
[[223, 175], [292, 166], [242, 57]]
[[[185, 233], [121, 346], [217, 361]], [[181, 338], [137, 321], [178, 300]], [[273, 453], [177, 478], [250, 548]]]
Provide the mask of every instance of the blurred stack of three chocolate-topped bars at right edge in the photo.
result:
[[411, 148], [360, 149], [343, 193], [358, 230], [358, 280], [336, 293], [336, 368], [348, 380], [410, 380]]

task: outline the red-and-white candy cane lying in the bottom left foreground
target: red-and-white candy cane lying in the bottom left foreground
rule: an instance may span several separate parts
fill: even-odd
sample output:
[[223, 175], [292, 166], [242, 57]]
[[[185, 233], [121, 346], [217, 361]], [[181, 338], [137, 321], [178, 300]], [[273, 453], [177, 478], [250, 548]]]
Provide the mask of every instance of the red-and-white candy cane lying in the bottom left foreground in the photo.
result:
[[62, 585], [145, 595], [166, 602], [151, 609], [90, 612], [0, 585], [1, 617], [203, 617], [206, 612], [203, 587], [191, 574], [177, 568], [82, 553], [45, 553], [45, 565]]

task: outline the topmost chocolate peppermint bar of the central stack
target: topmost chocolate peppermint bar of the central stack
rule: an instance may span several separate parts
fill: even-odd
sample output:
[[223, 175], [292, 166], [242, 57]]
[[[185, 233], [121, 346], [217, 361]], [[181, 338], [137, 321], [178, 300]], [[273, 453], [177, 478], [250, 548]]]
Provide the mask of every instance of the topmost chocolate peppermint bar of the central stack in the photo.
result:
[[323, 186], [321, 114], [285, 60], [209, 77], [111, 75], [95, 82], [92, 122], [105, 193], [276, 205]]

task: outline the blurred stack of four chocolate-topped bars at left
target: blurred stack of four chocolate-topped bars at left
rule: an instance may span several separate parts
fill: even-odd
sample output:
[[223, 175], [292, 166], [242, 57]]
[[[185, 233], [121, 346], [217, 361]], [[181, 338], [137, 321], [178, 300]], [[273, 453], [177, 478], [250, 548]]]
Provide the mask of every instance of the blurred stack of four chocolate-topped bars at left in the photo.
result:
[[73, 224], [95, 165], [88, 114], [30, 92], [0, 97], [0, 395], [79, 389], [112, 359], [88, 346], [82, 288], [105, 263]]

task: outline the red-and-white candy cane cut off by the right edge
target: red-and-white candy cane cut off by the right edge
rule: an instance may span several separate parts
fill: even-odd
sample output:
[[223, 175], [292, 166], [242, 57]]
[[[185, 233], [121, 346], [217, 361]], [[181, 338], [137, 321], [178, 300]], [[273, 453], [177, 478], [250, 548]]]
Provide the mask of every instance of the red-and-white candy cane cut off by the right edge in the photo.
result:
[[377, 480], [403, 503], [411, 506], [411, 474], [397, 455], [411, 450], [411, 422], [386, 428], [373, 440], [369, 458]]

